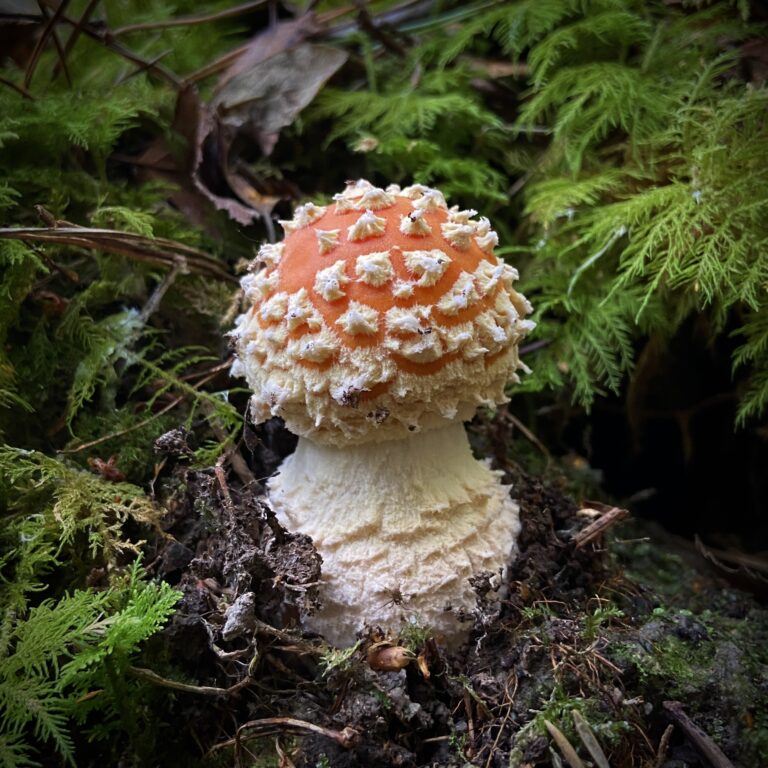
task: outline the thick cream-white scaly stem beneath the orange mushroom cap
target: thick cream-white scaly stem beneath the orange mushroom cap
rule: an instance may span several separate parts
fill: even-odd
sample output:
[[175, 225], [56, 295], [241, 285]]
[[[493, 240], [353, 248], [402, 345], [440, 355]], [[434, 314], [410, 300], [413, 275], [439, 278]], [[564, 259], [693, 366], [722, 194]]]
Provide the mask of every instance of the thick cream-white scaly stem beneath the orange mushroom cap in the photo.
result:
[[299, 438], [269, 494], [323, 558], [308, 626], [341, 646], [364, 624], [397, 633], [403, 621], [463, 640], [469, 577], [500, 572], [516, 550], [518, 506], [500, 474], [472, 456], [461, 422], [346, 448]]

